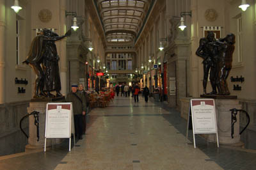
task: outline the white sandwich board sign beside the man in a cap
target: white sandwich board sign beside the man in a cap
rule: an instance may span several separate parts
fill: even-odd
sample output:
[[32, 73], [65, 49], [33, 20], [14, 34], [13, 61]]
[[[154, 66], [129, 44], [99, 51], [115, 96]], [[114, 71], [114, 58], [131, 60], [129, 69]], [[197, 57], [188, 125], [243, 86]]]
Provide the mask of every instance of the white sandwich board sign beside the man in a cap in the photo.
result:
[[71, 150], [71, 134], [74, 135], [74, 115], [72, 103], [48, 103], [46, 106], [45, 141], [47, 138], [69, 138], [69, 151]]

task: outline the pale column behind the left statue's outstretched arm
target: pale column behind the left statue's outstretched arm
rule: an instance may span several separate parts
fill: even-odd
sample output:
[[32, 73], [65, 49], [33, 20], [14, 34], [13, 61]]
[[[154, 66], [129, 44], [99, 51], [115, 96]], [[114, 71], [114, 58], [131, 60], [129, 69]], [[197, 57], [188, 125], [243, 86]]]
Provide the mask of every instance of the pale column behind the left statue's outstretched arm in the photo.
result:
[[[66, 1], [60, 0], [60, 35], [66, 32], [65, 19]], [[66, 56], [67, 39], [63, 38], [60, 41], [60, 79], [61, 79], [61, 93], [67, 95], [67, 56]]]

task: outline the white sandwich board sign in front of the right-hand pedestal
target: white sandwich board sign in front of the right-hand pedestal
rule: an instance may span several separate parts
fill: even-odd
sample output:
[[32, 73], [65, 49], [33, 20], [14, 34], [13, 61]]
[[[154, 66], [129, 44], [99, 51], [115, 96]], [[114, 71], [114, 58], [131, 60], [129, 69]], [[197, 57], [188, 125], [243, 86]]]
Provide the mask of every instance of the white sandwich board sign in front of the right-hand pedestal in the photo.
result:
[[188, 126], [187, 126], [187, 141], [188, 141], [190, 114], [192, 118], [194, 148], [196, 148], [195, 134], [216, 134], [217, 146], [219, 148], [214, 99], [197, 98], [197, 99], [190, 100]]

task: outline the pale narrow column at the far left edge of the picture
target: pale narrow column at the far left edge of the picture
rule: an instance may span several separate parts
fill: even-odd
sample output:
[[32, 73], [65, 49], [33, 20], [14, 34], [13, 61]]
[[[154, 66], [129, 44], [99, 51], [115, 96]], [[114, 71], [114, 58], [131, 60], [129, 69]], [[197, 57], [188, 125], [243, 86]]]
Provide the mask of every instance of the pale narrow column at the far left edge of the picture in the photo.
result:
[[5, 8], [4, 0], [0, 0], [0, 104], [5, 102]]

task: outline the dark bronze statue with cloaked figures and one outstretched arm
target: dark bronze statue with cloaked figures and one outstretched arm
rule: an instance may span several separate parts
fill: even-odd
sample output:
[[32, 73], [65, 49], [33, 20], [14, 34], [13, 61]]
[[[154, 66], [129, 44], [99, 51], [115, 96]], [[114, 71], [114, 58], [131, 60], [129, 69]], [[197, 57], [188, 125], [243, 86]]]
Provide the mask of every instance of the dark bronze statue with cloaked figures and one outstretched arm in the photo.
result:
[[56, 97], [62, 96], [60, 93], [59, 56], [55, 41], [70, 36], [70, 34], [71, 30], [63, 36], [58, 36], [49, 29], [43, 29], [41, 35], [33, 39], [28, 58], [23, 63], [31, 66], [37, 75], [34, 98], [54, 97], [50, 91], [56, 91]]

